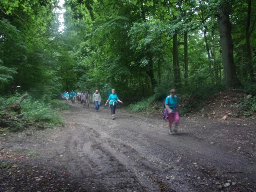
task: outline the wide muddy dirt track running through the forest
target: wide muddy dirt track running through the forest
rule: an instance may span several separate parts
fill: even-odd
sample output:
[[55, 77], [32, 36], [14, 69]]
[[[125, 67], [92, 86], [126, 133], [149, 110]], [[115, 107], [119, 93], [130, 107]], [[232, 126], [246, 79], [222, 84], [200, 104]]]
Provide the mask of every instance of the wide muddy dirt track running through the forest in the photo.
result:
[[72, 175], [90, 192], [256, 191], [256, 121], [181, 118], [167, 124], [116, 110], [64, 112], [63, 128], [13, 134], [6, 150], [35, 152], [35, 164]]

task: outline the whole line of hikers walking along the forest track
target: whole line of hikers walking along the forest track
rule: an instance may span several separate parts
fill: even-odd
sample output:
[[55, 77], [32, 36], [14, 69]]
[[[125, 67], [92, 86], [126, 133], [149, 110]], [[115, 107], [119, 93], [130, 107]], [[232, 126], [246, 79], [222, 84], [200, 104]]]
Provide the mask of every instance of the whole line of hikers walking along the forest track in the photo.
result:
[[[175, 95], [176, 90], [171, 89], [170, 90], [170, 95], [166, 97], [165, 99], [165, 112], [163, 119], [166, 120], [168, 119], [168, 132], [170, 135], [176, 134], [177, 133], [177, 127], [179, 123], [179, 114], [178, 114], [178, 97]], [[90, 103], [90, 94], [88, 91], [86, 92], [77, 92], [75, 93], [72, 91], [70, 94], [68, 92], [64, 92], [62, 94], [62, 99], [68, 100], [71, 99], [72, 104], [75, 103], [75, 99], [77, 99], [77, 102], [80, 104], [83, 104], [84, 107], [89, 107]], [[94, 102], [95, 110], [96, 112], [100, 108], [100, 102], [101, 102], [101, 96], [98, 90], [95, 90], [93, 96], [92, 96], [92, 101]], [[123, 104], [121, 100], [118, 99], [118, 96], [116, 95], [116, 90], [112, 89], [111, 94], [108, 97], [108, 100], [105, 103], [105, 106], [108, 104], [108, 106], [111, 109], [111, 115], [112, 119], [115, 119], [115, 113], [116, 113], [116, 105], [117, 103], [120, 102]]]

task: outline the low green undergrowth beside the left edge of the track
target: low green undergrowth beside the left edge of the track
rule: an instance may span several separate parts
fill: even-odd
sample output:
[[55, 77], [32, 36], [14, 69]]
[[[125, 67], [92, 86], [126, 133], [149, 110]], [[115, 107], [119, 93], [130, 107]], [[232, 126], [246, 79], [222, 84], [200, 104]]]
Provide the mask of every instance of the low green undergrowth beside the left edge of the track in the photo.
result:
[[[0, 96], [0, 118], [4, 120], [5, 124], [0, 125], [0, 134], [4, 134], [6, 130], [11, 132], [22, 131], [28, 124], [39, 124], [42, 127], [63, 125], [64, 121], [60, 116], [61, 111], [69, 108], [66, 102], [59, 100], [45, 100], [34, 99], [28, 96], [20, 104], [23, 118], [15, 120], [17, 115], [15, 112], [8, 111], [8, 107], [21, 98], [20, 94], [9, 97]], [[39, 128], [39, 126], [37, 126]]]

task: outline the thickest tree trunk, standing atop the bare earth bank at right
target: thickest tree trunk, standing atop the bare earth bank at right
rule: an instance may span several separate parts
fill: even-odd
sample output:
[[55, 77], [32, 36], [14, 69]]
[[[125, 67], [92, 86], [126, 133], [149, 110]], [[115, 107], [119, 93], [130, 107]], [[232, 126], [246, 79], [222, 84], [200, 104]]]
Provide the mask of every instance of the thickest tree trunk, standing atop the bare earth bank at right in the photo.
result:
[[231, 24], [229, 20], [229, 13], [226, 12], [229, 6], [229, 4], [222, 2], [218, 9], [220, 45], [222, 49], [222, 63], [224, 70], [225, 85], [227, 87], [237, 87], [241, 86], [241, 83], [237, 78], [236, 68], [234, 64]]

